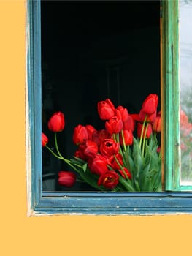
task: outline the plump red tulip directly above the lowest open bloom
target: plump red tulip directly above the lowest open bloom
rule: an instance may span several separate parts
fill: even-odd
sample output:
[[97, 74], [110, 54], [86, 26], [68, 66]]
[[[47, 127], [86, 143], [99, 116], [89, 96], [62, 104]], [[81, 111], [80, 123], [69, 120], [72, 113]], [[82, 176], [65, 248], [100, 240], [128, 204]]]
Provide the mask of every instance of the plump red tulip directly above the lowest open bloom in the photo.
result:
[[108, 164], [108, 159], [101, 154], [96, 154], [96, 157], [89, 159], [88, 161], [88, 167], [90, 168], [91, 173], [96, 173], [99, 176], [107, 172]]

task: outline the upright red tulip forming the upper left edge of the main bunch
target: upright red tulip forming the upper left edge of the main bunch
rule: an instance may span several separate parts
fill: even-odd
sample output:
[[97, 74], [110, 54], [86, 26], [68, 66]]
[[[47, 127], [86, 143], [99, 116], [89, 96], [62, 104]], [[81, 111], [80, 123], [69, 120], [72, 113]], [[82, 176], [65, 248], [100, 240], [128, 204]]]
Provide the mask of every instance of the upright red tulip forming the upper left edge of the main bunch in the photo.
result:
[[76, 145], [80, 145], [85, 143], [86, 140], [88, 140], [88, 130], [81, 124], [78, 124], [77, 127], [74, 127], [73, 142]]

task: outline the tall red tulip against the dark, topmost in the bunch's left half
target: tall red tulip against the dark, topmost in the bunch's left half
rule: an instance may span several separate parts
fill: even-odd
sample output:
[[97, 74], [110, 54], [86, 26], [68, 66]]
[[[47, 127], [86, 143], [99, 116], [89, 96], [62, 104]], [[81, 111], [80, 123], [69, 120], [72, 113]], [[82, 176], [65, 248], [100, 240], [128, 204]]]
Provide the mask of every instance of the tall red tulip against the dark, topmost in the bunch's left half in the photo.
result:
[[112, 116], [115, 116], [115, 106], [110, 99], [98, 102], [97, 110], [101, 120], [109, 120]]

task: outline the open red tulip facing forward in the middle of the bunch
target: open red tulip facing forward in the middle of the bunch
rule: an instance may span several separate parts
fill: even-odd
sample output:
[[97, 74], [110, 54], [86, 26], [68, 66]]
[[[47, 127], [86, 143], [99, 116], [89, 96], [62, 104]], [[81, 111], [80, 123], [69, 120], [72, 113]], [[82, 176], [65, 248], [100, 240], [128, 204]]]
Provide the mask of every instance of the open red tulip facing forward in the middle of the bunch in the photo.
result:
[[119, 143], [116, 143], [115, 140], [106, 139], [103, 140], [100, 146], [100, 152], [105, 157], [111, 157], [114, 154], [117, 154], [119, 151]]

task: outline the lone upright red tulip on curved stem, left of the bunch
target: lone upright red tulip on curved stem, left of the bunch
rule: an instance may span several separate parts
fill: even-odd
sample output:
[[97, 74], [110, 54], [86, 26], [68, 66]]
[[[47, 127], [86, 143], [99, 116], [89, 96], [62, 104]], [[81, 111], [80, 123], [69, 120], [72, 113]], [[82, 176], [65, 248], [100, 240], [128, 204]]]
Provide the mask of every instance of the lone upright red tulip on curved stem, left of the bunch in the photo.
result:
[[48, 128], [52, 132], [62, 132], [65, 127], [64, 114], [61, 112], [56, 112], [51, 116], [48, 121]]

